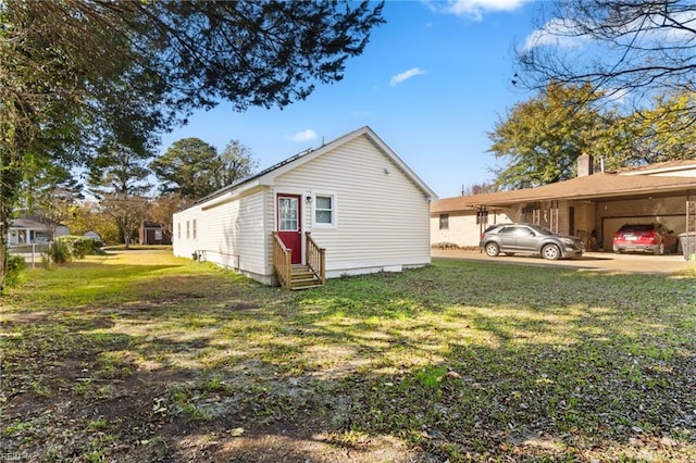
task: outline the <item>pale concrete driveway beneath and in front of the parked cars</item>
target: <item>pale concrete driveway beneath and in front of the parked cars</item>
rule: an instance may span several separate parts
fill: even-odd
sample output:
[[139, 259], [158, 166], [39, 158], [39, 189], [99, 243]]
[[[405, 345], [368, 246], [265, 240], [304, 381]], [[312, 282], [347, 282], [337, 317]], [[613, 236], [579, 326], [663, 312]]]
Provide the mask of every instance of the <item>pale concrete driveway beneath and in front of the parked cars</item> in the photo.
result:
[[538, 256], [498, 255], [489, 258], [484, 252], [462, 250], [431, 250], [433, 259], [453, 259], [471, 262], [492, 262], [531, 266], [558, 266], [593, 272], [645, 273], [671, 275], [685, 268], [696, 267], [696, 262], [685, 261], [682, 254], [614, 254], [611, 252], [586, 252], [580, 259], [547, 261]]

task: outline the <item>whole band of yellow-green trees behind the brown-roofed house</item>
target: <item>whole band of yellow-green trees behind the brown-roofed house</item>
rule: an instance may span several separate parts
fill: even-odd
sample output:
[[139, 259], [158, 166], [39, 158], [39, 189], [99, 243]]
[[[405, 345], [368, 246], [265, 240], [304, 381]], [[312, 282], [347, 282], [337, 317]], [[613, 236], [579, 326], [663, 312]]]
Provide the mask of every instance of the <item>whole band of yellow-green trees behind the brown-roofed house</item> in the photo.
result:
[[508, 159], [496, 171], [500, 188], [530, 188], [573, 177], [583, 152], [608, 170], [691, 160], [696, 134], [683, 111], [696, 96], [659, 96], [650, 109], [621, 115], [597, 104], [601, 95], [582, 87], [551, 83], [537, 97], [518, 103], [508, 118], [488, 134], [489, 152]]

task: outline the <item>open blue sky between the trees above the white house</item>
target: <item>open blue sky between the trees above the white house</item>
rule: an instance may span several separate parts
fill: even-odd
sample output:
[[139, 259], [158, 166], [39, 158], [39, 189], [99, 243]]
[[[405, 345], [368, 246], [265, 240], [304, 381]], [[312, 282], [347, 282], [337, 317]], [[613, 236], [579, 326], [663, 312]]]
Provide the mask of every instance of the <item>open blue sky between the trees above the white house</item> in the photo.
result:
[[487, 132], [532, 95], [511, 85], [512, 49], [534, 33], [524, 0], [387, 1], [386, 24], [341, 82], [284, 110], [229, 104], [162, 137], [248, 147], [260, 168], [369, 125], [440, 198], [493, 179]]

